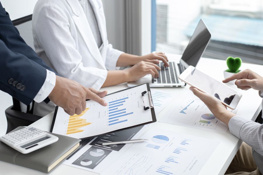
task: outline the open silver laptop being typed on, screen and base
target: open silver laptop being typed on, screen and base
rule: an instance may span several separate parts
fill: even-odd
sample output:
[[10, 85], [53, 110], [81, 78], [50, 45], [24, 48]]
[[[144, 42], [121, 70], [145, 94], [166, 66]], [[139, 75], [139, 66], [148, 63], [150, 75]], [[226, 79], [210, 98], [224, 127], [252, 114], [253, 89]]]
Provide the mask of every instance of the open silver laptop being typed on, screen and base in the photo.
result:
[[[161, 70], [158, 78], [147, 75], [138, 81], [129, 82], [128, 87], [133, 87], [143, 83], [149, 83], [150, 87], [184, 87], [186, 84], [178, 79], [178, 76], [189, 66], [195, 67], [199, 59], [202, 57], [207, 47], [211, 33], [201, 19], [190, 38], [188, 46], [179, 62], [168, 62], [169, 67], [164, 67], [163, 62], [157, 64]], [[168, 57], [169, 59], [169, 57]]]

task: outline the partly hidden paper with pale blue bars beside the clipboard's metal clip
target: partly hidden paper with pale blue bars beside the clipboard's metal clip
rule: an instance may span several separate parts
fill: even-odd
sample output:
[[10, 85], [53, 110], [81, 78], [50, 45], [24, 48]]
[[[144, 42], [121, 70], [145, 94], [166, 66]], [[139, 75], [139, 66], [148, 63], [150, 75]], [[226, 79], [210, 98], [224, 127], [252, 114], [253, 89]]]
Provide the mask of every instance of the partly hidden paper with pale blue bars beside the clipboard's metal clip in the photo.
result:
[[151, 88], [151, 95], [153, 99], [153, 106], [155, 114], [160, 113], [169, 103], [171, 103], [179, 93], [156, 90]]

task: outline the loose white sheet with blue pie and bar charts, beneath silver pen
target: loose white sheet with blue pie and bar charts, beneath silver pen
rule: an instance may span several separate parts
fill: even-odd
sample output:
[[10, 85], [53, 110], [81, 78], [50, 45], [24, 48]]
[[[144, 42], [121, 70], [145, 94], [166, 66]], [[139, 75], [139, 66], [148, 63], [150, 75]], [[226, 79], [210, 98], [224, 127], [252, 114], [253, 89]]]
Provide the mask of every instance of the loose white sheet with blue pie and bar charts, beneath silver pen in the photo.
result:
[[[133, 144], [102, 175], [198, 174], [219, 142], [157, 127]], [[158, 158], [156, 158], [158, 157]]]

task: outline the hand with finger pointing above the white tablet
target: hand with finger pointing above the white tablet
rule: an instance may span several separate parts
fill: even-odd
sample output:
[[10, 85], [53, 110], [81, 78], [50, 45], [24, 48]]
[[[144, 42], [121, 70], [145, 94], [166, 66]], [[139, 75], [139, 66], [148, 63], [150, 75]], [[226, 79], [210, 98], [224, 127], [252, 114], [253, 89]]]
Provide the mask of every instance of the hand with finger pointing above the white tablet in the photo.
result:
[[[237, 80], [236, 80], [237, 79]], [[237, 74], [232, 75], [229, 78], [223, 80], [223, 83], [236, 80], [235, 84], [239, 89], [248, 90], [250, 88], [255, 90], [263, 90], [263, 77], [259, 76], [250, 69], [246, 69]]]

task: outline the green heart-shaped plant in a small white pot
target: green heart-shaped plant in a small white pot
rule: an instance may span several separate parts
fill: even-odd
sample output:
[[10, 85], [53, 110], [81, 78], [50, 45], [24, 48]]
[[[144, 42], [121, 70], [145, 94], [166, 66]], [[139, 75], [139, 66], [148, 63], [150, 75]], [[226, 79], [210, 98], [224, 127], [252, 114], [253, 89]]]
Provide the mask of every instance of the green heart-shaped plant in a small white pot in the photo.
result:
[[[240, 66], [242, 64], [242, 60], [239, 57], [233, 58], [233, 57], [228, 57], [226, 59], [226, 65], [228, 67], [227, 70], [224, 71], [224, 77], [228, 78], [230, 76], [232, 76], [233, 74], [236, 74], [238, 72], [240, 72], [241, 70], [239, 70]], [[236, 80], [230, 81], [230, 84], [235, 84]]]

